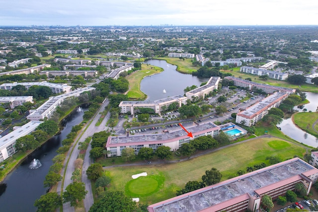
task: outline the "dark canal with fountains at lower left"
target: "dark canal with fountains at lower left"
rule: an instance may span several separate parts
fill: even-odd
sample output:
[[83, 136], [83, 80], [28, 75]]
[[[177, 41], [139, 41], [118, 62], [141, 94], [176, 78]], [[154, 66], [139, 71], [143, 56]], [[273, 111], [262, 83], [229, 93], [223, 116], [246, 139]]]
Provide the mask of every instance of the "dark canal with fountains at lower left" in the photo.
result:
[[[53, 164], [52, 158], [57, 155], [56, 150], [62, 146], [61, 141], [71, 132], [72, 127], [81, 123], [84, 106], [81, 112], [75, 109], [62, 123], [61, 134], [54, 136], [40, 148], [30, 154], [24, 161], [7, 175], [0, 185], [1, 212], [36, 212], [33, 206], [36, 199], [47, 192], [43, 186], [45, 176]], [[37, 169], [30, 169], [31, 161], [36, 158], [42, 163]]]

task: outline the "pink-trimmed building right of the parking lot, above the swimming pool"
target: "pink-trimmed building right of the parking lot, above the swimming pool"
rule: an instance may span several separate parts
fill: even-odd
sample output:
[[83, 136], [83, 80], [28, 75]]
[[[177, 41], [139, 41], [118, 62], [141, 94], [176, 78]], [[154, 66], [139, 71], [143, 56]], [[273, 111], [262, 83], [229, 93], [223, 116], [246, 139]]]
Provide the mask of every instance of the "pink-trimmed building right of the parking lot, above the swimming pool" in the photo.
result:
[[250, 127], [260, 121], [271, 108], [278, 107], [288, 93], [276, 92], [237, 114], [236, 123]]

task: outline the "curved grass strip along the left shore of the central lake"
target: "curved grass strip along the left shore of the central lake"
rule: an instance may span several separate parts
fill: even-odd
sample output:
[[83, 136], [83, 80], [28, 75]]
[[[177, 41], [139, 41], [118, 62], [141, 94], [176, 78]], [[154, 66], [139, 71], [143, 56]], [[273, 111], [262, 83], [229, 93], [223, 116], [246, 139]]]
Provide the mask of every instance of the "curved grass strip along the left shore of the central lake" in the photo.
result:
[[130, 100], [145, 100], [147, 95], [140, 90], [140, 82], [145, 76], [149, 76], [155, 73], [160, 73], [163, 69], [159, 67], [154, 67], [151, 65], [142, 64], [141, 71], [135, 71], [129, 76], [127, 80], [129, 81], [128, 97]]

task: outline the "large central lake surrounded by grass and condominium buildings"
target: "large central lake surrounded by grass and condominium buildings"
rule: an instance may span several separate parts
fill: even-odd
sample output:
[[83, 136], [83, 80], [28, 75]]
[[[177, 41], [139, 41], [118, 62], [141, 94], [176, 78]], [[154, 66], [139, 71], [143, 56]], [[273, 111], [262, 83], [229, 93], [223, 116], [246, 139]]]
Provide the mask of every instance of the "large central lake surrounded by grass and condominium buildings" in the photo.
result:
[[[187, 86], [197, 85], [207, 82], [209, 78], [199, 78], [191, 74], [184, 74], [176, 71], [176, 66], [168, 64], [162, 60], [149, 60], [145, 64], [150, 64], [162, 68], [164, 71], [145, 77], [140, 88], [147, 94], [147, 100], [153, 101], [169, 96], [183, 95]], [[163, 92], [163, 89], [166, 93]]]

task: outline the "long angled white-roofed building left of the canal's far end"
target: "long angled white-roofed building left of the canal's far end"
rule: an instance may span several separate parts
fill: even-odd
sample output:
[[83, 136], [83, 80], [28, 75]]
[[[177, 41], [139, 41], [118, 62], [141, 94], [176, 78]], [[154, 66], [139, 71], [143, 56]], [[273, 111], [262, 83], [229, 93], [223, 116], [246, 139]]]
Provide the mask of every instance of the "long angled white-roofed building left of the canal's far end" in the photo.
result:
[[57, 106], [62, 104], [65, 99], [73, 97], [73, 96], [79, 96], [82, 92], [94, 90], [94, 87], [84, 87], [84, 88], [78, 88], [77, 90], [61, 94], [59, 96], [51, 96], [49, 100], [44, 102], [40, 107], [38, 107], [36, 110], [30, 110], [30, 115], [28, 115], [26, 118], [31, 121], [40, 121], [44, 118], [50, 118], [52, 114], [54, 113]]

